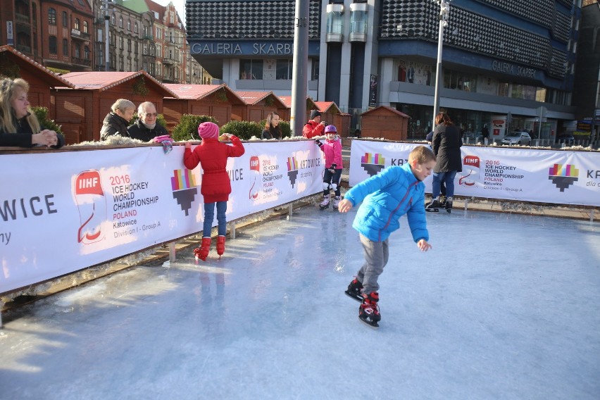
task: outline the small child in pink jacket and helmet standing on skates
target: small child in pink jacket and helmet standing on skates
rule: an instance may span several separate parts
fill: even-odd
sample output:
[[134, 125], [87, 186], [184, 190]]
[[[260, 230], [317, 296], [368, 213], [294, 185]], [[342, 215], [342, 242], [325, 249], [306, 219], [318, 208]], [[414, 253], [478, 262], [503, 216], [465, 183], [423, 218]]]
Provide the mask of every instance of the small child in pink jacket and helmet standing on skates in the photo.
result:
[[333, 198], [333, 208], [337, 210], [339, 204], [339, 178], [342, 177], [342, 143], [337, 137], [337, 130], [334, 125], [325, 127], [325, 143], [315, 139], [315, 142], [325, 153], [325, 172], [323, 173], [323, 201], [319, 204], [321, 210], [329, 208], [330, 189], [333, 189], [335, 197]]

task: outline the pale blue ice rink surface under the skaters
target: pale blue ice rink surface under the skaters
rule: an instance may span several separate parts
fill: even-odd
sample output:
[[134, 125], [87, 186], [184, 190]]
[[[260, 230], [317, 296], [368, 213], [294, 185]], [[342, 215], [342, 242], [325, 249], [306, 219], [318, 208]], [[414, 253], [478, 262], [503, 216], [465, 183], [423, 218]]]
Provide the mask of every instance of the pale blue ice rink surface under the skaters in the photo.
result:
[[356, 214], [294, 209], [4, 313], [0, 398], [599, 399], [600, 223], [454, 210], [406, 218], [378, 330], [344, 289]]

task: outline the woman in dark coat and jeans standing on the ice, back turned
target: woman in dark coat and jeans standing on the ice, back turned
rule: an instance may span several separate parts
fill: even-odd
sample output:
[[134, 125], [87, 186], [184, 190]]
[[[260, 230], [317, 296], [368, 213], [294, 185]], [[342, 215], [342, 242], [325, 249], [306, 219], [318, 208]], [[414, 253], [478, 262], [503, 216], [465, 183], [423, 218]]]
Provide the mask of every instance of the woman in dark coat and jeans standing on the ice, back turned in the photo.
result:
[[439, 212], [439, 189], [442, 182], [446, 185], [446, 211], [452, 209], [454, 200], [454, 177], [463, 170], [461, 158], [461, 131], [452, 123], [446, 113], [439, 113], [435, 117], [435, 130], [431, 147], [436, 157], [433, 170], [432, 201], [427, 204], [425, 211]]

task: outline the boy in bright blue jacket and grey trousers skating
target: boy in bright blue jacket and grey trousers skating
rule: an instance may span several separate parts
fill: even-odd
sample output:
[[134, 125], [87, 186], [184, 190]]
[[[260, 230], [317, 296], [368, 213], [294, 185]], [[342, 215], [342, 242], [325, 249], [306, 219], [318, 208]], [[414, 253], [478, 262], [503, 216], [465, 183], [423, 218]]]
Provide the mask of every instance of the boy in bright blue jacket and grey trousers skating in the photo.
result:
[[400, 226], [406, 214], [408, 226], [420, 251], [431, 249], [427, 243], [425, 218], [425, 184], [435, 167], [435, 156], [426, 146], [418, 146], [408, 155], [408, 163], [385, 168], [381, 173], [364, 180], [344, 195], [339, 212], [363, 202], [358, 208], [352, 227], [358, 230], [365, 251], [365, 263], [348, 285], [346, 294], [361, 301], [358, 318], [372, 327], [381, 320], [377, 278], [389, 258], [389, 235]]

